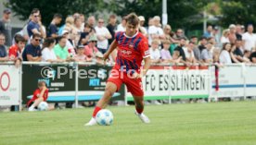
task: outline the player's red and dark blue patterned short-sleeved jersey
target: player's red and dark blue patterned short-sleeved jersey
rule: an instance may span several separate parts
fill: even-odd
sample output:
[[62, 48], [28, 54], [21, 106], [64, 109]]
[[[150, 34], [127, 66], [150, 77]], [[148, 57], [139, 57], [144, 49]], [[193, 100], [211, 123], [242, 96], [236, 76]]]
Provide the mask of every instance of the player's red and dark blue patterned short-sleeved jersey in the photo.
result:
[[114, 68], [139, 72], [143, 58], [150, 56], [147, 38], [138, 31], [132, 37], [120, 31], [115, 34], [115, 40], [118, 42], [118, 54]]

